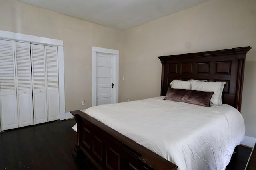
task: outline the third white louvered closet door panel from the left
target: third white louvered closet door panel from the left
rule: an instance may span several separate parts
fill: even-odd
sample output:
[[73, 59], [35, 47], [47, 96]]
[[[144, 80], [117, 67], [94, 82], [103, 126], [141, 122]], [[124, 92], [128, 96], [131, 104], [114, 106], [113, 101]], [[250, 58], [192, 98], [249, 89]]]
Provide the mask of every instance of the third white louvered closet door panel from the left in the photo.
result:
[[34, 124], [47, 122], [44, 45], [31, 44]]

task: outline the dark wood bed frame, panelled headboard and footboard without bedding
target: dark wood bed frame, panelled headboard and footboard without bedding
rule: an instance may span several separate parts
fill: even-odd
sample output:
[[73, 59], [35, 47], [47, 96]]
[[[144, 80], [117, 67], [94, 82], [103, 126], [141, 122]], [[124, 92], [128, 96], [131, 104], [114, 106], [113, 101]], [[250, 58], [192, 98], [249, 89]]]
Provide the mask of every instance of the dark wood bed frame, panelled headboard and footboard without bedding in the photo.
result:
[[[161, 96], [172, 80], [226, 82], [222, 102], [241, 109], [244, 64], [251, 47], [158, 57], [162, 63]], [[175, 170], [177, 166], [82, 111], [70, 111], [77, 122], [73, 155], [85, 154], [98, 169]]]

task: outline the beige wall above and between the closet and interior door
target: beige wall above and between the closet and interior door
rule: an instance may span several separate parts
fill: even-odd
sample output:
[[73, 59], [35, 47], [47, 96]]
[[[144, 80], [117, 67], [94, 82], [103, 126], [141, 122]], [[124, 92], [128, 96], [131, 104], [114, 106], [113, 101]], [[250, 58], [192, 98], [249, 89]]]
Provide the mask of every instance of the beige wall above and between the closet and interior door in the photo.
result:
[[66, 112], [92, 106], [92, 46], [122, 53], [121, 31], [14, 0], [0, 0], [0, 30], [64, 41]]

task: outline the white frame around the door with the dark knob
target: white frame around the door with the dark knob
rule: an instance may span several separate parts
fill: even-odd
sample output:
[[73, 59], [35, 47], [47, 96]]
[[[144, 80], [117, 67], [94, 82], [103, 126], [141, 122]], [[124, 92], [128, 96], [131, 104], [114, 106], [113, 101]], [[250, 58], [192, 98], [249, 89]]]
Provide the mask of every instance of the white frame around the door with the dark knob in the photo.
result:
[[96, 106], [96, 53], [106, 53], [114, 58], [114, 103], [118, 103], [119, 90], [119, 51], [101, 47], [92, 47], [92, 106]]

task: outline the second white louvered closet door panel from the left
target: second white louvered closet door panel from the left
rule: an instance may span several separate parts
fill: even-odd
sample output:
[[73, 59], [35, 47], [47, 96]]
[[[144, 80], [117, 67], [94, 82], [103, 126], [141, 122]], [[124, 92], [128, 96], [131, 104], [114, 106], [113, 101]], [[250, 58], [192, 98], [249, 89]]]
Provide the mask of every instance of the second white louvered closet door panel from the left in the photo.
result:
[[34, 124], [30, 44], [15, 42], [19, 127]]

